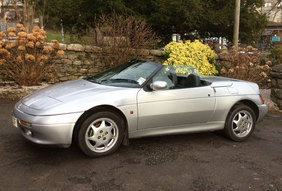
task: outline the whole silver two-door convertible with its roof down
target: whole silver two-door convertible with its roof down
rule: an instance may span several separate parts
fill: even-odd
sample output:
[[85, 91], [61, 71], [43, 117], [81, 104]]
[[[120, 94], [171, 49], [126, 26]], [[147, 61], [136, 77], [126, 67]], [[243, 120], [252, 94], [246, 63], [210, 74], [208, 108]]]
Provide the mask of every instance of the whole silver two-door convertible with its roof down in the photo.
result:
[[24, 97], [12, 120], [33, 143], [68, 147], [75, 141], [97, 157], [137, 137], [223, 130], [243, 141], [266, 113], [255, 83], [131, 60]]

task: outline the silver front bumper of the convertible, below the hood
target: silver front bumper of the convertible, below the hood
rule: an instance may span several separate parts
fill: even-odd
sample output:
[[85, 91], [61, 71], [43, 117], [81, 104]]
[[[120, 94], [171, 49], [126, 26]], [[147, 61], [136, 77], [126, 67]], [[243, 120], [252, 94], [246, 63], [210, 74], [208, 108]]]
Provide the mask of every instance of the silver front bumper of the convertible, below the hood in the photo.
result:
[[[13, 110], [14, 126], [17, 125], [22, 135], [29, 141], [40, 145], [58, 145], [68, 147], [72, 142], [73, 129], [82, 113], [52, 116], [33, 116], [16, 109]], [[26, 121], [31, 127], [20, 124]]]

